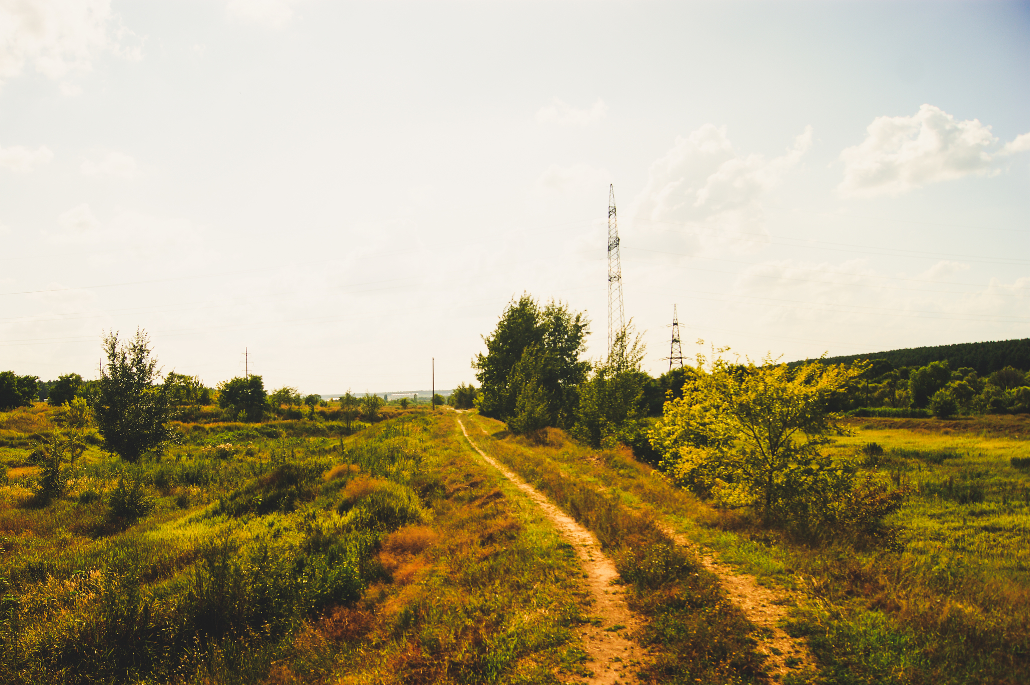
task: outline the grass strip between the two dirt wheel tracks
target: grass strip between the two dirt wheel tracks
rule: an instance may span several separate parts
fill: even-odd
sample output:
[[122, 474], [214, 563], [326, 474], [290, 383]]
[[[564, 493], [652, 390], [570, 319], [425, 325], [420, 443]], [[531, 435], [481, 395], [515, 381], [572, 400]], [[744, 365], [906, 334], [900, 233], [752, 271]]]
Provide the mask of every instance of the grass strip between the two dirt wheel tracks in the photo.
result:
[[497, 421], [479, 416], [467, 420], [485, 431], [476, 439], [487, 453], [592, 530], [613, 557], [630, 608], [649, 619], [637, 636], [654, 654], [641, 669], [645, 681], [750, 683], [764, 678], [754, 626], [696, 556], [674, 543], [651, 510], [638, 506], [651, 499], [690, 506], [692, 498], [670, 488], [625, 451], [604, 452], [603, 461], [591, 461], [592, 451], [560, 431], [549, 429], [539, 441], [543, 444], [534, 444], [499, 433], [503, 425]]

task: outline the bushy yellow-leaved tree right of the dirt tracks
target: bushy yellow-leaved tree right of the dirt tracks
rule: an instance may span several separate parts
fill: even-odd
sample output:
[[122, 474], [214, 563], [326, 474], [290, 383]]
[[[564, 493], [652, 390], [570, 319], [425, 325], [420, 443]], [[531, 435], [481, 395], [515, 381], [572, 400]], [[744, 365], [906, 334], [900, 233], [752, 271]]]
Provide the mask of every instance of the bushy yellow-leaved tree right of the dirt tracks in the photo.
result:
[[[834, 430], [828, 402], [864, 370], [862, 363], [790, 368], [769, 357], [760, 366], [698, 364], [683, 398], [665, 405], [651, 443], [675, 480], [725, 506], [752, 507], [766, 523], [853, 516], [842, 503], [879, 520], [887, 510], [876, 503], [889, 510], [900, 500], [860, 486], [854, 465], [820, 453]], [[856, 488], [865, 504], [855, 504]]]

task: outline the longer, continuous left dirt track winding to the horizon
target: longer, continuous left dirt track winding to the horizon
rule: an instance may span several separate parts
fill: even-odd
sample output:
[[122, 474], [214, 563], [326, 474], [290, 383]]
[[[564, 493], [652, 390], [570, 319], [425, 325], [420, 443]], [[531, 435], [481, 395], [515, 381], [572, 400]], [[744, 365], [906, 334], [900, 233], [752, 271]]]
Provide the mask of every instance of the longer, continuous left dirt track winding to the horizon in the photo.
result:
[[[458, 425], [466, 440], [473, 449], [491, 467], [525, 492], [544, 514], [554, 523], [558, 532], [576, 548], [583, 572], [586, 574], [587, 587], [593, 595], [593, 615], [600, 619], [599, 625], [590, 625], [580, 632], [583, 638], [583, 648], [593, 659], [590, 664], [594, 674], [582, 681], [596, 685], [609, 683], [640, 683], [636, 677], [636, 666], [646, 656], [640, 645], [627, 638], [629, 633], [641, 627], [640, 618], [629, 611], [623, 597], [622, 589], [612, 585], [619, 577], [615, 564], [600, 551], [597, 539], [589, 530], [576, 522], [571, 516], [555, 507], [531, 485], [514, 473], [490, 458], [469, 437], [465, 422], [458, 418]], [[617, 629], [616, 626], [622, 626]]]

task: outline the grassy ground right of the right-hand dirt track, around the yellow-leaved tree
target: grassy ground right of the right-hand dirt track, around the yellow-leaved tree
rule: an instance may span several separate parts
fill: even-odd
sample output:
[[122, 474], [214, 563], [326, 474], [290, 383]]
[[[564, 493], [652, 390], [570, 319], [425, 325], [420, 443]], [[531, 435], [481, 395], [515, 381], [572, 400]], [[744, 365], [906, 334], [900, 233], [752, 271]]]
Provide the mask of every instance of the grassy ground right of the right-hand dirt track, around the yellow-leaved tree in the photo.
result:
[[[474, 420], [489, 433], [502, 427]], [[559, 432], [542, 446], [486, 442], [545, 490], [552, 480], [606, 491], [664, 517], [760, 582], [796, 590], [802, 600], [788, 629], [809, 637], [817, 682], [1030, 681], [1030, 472], [1011, 466], [1030, 457], [1030, 421], [866, 419], [855, 427], [831, 449], [912, 489], [889, 521], [893, 543], [815, 543], [764, 530], [670, 487], [625, 451], [589, 450]], [[866, 449], [870, 442], [883, 453]]]

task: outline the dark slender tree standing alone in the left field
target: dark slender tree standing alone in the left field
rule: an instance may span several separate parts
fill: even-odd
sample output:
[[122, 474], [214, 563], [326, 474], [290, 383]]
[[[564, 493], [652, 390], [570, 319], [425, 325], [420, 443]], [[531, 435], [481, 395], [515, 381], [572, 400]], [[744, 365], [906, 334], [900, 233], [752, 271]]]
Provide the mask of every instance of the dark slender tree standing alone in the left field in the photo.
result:
[[168, 386], [157, 383], [158, 359], [151, 356], [144, 331], [137, 330], [125, 342], [111, 332], [104, 337], [103, 350], [107, 362], [100, 368], [94, 418], [107, 449], [135, 463], [144, 452], [160, 452], [176, 437], [168, 425]]

